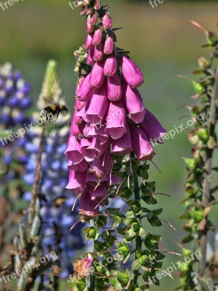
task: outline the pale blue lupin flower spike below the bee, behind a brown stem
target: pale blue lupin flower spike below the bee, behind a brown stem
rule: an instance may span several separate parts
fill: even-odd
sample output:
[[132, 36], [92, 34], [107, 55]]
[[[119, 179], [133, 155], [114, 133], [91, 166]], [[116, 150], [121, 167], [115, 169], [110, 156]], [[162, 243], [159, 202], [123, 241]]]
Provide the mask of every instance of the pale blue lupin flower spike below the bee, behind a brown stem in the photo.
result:
[[[32, 185], [34, 181], [39, 150], [39, 134], [36, 131], [31, 134], [31, 141], [25, 144], [29, 159], [26, 164], [24, 181], [29, 185]], [[53, 129], [46, 136], [39, 193], [44, 252], [47, 253], [52, 249], [61, 253], [60, 267], [64, 271], [62, 275], [66, 277], [72, 272], [69, 258], [73, 257], [76, 249], [83, 247], [81, 227], [77, 225], [73, 233], [69, 232], [70, 226], [77, 219], [70, 208], [75, 198], [72, 197], [71, 191], [64, 189], [68, 173], [67, 162], [62, 153], [67, 146], [68, 135], [69, 129], [64, 127], [59, 130]], [[26, 192], [24, 198], [30, 201], [31, 195]]]

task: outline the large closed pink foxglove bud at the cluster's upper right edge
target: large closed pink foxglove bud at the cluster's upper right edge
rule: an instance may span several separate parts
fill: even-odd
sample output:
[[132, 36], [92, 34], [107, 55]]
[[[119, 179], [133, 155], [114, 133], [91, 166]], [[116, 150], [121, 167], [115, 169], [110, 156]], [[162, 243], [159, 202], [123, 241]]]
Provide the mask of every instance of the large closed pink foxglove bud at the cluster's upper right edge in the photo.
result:
[[121, 69], [126, 83], [131, 88], [136, 88], [143, 84], [144, 78], [140, 69], [123, 54], [121, 54]]

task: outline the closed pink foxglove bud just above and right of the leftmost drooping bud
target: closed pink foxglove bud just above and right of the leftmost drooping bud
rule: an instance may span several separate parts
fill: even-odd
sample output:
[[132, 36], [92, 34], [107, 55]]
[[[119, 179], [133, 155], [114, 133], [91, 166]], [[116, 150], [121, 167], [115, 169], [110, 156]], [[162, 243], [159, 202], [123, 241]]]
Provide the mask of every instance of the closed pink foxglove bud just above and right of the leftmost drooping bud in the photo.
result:
[[92, 72], [90, 73], [89, 84], [92, 88], [100, 88], [103, 85], [104, 80], [105, 80], [104, 61], [96, 62], [93, 65]]

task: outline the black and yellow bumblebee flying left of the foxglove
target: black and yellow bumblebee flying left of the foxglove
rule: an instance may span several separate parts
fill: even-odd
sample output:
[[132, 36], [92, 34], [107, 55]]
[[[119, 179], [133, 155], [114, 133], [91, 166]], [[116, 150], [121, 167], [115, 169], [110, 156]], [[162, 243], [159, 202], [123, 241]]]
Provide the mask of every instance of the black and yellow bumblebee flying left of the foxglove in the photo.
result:
[[61, 103], [55, 102], [55, 100], [52, 97], [49, 97], [49, 99], [45, 97], [43, 98], [49, 106], [45, 107], [40, 115], [41, 117], [46, 116], [46, 121], [50, 122], [55, 114], [57, 114], [55, 121], [58, 119], [59, 113], [61, 113], [62, 116], [67, 115], [68, 113], [67, 105], [69, 105], [70, 103], [66, 103], [65, 105], [63, 105]]

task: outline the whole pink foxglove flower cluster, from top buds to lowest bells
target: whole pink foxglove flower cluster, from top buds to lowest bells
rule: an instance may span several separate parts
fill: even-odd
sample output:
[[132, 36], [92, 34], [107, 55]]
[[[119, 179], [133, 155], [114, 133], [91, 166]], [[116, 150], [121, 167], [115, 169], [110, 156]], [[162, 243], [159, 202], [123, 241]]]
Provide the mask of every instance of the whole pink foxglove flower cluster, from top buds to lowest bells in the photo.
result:
[[117, 29], [112, 29], [108, 9], [100, 0], [80, 0], [78, 7], [87, 15], [88, 34], [85, 45], [75, 51], [79, 78], [65, 154], [67, 188], [81, 194], [79, 211], [87, 221], [97, 214], [100, 202], [107, 203], [113, 155], [134, 152], [138, 161], [151, 161], [155, 151], [150, 140], [166, 131], [143, 107], [137, 89], [143, 75], [128, 52], [115, 47]]

